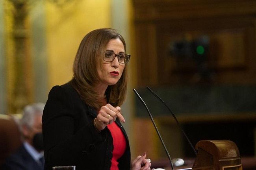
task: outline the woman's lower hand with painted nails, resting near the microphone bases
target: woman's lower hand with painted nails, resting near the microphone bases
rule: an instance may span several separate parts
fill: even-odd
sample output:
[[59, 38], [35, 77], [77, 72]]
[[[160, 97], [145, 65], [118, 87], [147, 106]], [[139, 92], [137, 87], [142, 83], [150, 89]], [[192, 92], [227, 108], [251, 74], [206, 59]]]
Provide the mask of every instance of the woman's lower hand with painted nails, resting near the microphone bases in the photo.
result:
[[131, 170], [150, 170], [150, 159], [146, 158], [146, 152], [141, 156], [137, 156], [131, 164]]

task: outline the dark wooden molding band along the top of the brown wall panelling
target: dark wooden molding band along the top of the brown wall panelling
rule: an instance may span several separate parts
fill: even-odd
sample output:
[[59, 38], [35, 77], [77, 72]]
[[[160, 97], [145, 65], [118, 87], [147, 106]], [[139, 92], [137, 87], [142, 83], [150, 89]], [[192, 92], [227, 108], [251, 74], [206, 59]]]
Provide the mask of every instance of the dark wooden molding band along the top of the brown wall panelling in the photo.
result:
[[253, 15], [254, 0], [134, 0], [135, 22]]

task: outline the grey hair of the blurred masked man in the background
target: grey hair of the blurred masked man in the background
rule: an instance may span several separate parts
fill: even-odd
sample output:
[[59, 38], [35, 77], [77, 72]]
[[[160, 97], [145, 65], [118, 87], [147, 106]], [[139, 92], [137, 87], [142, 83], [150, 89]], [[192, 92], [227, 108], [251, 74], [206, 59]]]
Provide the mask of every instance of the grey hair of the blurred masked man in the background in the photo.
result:
[[36, 115], [42, 116], [45, 104], [44, 103], [33, 103], [26, 105], [23, 111], [23, 116], [20, 120], [21, 126], [27, 126], [31, 128], [34, 123], [34, 117]]

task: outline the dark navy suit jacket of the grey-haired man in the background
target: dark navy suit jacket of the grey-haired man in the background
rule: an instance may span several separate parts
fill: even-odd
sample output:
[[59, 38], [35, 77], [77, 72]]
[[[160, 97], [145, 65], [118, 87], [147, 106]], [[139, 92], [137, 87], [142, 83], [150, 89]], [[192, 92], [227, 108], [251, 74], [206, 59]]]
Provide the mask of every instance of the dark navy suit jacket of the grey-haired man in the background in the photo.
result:
[[37, 163], [25, 149], [24, 145], [7, 158], [3, 170], [43, 170], [43, 165]]

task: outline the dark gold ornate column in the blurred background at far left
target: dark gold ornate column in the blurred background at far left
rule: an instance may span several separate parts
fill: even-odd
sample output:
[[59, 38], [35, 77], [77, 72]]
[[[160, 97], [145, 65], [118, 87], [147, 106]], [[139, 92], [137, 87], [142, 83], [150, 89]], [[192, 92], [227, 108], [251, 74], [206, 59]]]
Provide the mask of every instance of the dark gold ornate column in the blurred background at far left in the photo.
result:
[[28, 32], [26, 29], [26, 17], [28, 15], [28, 0], [11, 0], [13, 5], [13, 29], [12, 38], [14, 41], [14, 85], [12, 89], [13, 99], [9, 102], [11, 113], [20, 113], [23, 107], [28, 104], [28, 86], [26, 86], [26, 40]]

